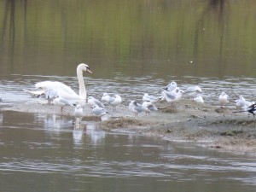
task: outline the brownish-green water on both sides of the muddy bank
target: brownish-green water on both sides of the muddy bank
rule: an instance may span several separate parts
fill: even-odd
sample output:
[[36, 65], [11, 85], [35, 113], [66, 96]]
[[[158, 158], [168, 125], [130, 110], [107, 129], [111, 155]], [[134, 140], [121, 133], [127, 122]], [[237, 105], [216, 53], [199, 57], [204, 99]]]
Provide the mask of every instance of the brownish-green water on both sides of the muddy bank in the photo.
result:
[[[253, 0], [0, 0], [0, 108], [31, 101], [22, 89], [59, 80], [127, 104], [172, 80], [199, 84], [205, 102], [255, 100]], [[72, 117], [0, 111], [1, 191], [255, 191], [241, 154], [102, 131]]]

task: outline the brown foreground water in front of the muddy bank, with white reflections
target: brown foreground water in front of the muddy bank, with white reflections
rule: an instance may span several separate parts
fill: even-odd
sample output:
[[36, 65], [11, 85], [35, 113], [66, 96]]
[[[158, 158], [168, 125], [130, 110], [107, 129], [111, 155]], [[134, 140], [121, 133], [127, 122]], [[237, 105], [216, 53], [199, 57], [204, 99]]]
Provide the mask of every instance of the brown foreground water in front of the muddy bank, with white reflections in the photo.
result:
[[57, 115], [1, 113], [3, 191], [250, 191], [256, 164]]

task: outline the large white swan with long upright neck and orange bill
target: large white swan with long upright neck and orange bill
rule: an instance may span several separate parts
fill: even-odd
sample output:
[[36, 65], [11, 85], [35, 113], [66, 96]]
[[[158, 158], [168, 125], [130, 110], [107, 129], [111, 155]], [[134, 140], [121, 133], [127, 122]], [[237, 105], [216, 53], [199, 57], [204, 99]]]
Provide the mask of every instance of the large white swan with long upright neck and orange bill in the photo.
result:
[[[90, 72], [90, 67], [84, 63], [79, 64], [77, 67], [77, 76], [79, 80], [79, 95], [75, 93], [69, 86], [66, 84], [62, 84], [58, 81], [42, 81], [35, 84], [37, 89], [42, 89], [44, 92], [46, 90], [56, 90], [58, 92], [58, 96], [61, 96], [67, 100], [85, 100], [86, 98], [86, 90], [83, 79], [83, 71]], [[33, 91], [27, 91], [29, 94], [33, 95]]]

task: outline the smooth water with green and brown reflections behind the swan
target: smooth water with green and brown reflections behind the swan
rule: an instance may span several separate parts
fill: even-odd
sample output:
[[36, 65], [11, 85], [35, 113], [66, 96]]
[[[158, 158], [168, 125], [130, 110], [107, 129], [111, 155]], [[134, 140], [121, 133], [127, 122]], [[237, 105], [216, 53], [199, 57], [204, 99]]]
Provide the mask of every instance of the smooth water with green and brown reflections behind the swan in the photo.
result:
[[104, 79], [112, 72], [254, 77], [255, 6], [252, 0], [2, 0], [0, 74], [71, 75], [83, 61]]

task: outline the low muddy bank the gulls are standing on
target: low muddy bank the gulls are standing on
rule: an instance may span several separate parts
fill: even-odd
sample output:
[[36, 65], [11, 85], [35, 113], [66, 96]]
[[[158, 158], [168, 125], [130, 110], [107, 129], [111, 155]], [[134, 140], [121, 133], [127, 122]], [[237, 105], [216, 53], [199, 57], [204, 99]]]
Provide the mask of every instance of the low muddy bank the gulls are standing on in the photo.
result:
[[[167, 102], [158, 102], [159, 110], [137, 117], [121, 105], [116, 112], [97, 121], [105, 130], [133, 131], [170, 141], [199, 143], [209, 148], [220, 148], [241, 153], [256, 154], [256, 118], [247, 113], [232, 113], [235, 108], [219, 108], [205, 103], [181, 100], [171, 107]], [[61, 108], [45, 103], [27, 102], [15, 104], [2, 110], [26, 113], [57, 113], [73, 116], [73, 107]], [[83, 120], [96, 120], [88, 106], [84, 108]]]

